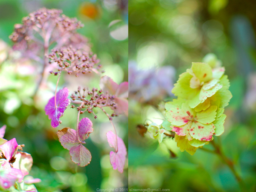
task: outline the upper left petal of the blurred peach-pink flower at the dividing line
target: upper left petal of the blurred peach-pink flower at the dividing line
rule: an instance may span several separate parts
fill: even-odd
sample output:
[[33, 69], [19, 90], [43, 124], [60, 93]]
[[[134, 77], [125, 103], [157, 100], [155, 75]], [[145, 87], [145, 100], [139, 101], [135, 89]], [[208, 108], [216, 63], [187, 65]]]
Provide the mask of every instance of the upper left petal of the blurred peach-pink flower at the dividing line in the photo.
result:
[[100, 79], [99, 87], [104, 91], [108, 91], [109, 94], [115, 95], [118, 89], [118, 84], [114, 82], [109, 76], [103, 76]]

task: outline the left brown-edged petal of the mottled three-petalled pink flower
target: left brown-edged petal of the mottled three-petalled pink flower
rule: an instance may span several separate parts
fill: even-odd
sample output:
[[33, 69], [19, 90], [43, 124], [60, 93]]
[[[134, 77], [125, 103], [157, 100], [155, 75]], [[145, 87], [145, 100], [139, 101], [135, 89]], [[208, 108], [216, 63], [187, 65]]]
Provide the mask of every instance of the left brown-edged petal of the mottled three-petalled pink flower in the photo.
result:
[[64, 128], [61, 131], [57, 132], [59, 141], [61, 142], [61, 145], [70, 150], [73, 146], [76, 146], [79, 144], [76, 130], [70, 129], [70, 128]]

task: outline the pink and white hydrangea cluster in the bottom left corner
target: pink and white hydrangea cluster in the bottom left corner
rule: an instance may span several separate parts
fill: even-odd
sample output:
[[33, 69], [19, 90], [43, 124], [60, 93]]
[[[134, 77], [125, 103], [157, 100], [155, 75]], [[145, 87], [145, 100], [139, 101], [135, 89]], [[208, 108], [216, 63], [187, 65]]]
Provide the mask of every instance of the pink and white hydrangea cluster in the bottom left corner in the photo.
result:
[[33, 183], [41, 180], [27, 177], [33, 164], [31, 155], [22, 151], [24, 145], [18, 145], [15, 138], [3, 139], [5, 130], [6, 125], [0, 128], [0, 190], [37, 192]]

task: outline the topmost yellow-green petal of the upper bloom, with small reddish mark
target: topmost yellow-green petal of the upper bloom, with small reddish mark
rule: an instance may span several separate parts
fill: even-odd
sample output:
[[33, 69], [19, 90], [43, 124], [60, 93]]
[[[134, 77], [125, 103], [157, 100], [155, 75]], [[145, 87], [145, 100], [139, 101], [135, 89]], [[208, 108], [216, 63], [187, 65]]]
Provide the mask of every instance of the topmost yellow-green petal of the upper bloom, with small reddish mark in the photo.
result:
[[201, 82], [208, 82], [212, 79], [212, 68], [209, 66], [209, 64], [192, 63], [191, 69]]

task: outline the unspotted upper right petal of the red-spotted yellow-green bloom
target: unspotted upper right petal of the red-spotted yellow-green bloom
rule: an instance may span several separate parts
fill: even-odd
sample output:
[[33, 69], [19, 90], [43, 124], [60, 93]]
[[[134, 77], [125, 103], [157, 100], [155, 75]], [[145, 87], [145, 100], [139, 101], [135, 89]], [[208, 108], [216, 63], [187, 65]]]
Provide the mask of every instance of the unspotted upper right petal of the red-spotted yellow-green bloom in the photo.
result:
[[200, 111], [196, 114], [195, 120], [203, 124], [210, 124], [215, 120], [217, 106], [213, 105], [205, 111]]

